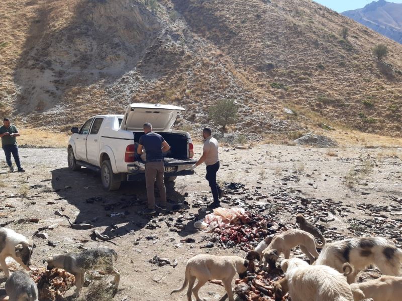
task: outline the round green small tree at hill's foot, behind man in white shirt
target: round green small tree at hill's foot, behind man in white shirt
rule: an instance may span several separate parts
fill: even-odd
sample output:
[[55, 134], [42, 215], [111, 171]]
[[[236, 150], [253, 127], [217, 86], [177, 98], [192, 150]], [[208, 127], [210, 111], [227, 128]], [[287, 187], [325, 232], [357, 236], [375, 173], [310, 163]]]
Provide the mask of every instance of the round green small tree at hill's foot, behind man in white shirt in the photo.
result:
[[222, 134], [226, 125], [233, 124], [237, 120], [238, 107], [234, 100], [219, 100], [209, 111], [210, 118], [222, 126]]

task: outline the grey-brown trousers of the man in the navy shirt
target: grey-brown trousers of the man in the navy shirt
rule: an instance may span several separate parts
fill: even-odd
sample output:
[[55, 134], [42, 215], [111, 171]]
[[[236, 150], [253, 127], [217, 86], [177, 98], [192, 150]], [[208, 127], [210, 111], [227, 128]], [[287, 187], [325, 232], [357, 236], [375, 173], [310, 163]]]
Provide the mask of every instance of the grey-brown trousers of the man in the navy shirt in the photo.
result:
[[145, 183], [147, 186], [148, 209], [155, 209], [155, 192], [154, 184], [156, 179], [156, 186], [160, 193], [159, 205], [166, 207], [166, 188], [163, 179], [165, 166], [163, 162], [147, 162], [145, 164]]

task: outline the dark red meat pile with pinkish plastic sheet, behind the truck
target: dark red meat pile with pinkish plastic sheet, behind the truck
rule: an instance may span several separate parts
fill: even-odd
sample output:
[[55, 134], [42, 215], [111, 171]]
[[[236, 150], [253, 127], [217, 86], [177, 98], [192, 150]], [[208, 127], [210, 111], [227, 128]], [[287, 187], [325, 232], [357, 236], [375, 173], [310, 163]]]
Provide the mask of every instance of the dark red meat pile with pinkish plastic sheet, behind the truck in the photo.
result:
[[202, 231], [214, 232], [212, 242], [218, 242], [224, 248], [237, 245], [245, 251], [254, 248], [264, 237], [276, 233], [282, 226], [269, 216], [244, 208], [216, 208], [214, 213], [194, 223], [194, 227]]

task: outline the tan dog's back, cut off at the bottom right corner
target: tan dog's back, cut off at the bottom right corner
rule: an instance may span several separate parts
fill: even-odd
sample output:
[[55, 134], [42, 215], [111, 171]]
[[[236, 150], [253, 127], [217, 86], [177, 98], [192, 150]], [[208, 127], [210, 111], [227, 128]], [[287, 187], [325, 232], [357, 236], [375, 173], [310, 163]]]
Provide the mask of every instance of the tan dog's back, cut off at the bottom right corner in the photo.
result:
[[399, 301], [402, 298], [402, 277], [381, 276], [378, 279], [350, 284], [355, 301], [372, 298], [374, 301]]

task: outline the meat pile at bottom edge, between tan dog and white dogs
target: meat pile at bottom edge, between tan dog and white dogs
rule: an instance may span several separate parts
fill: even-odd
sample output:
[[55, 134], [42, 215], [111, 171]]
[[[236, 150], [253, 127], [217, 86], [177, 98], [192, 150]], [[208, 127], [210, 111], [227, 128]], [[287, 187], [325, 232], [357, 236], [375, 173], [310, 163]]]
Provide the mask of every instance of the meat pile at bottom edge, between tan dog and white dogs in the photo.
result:
[[286, 301], [288, 298], [283, 296], [275, 299], [273, 284], [281, 277], [278, 274], [270, 274], [266, 271], [259, 271], [257, 274], [249, 274], [244, 279], [236, 279], [236, 294], [245, 301]]

